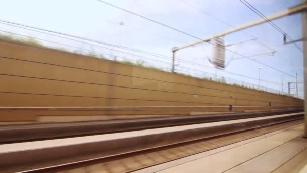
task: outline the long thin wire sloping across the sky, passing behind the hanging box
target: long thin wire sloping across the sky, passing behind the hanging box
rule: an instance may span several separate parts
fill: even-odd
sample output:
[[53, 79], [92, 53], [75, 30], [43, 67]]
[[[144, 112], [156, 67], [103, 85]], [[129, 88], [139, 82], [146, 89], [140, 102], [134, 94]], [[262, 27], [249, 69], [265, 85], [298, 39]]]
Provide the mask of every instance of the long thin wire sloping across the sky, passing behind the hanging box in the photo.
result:
[[[109, 6], [111, 6], [111, 7], [120, 9], [120, 10], [122, 10], [122, 11], [125, 11], [125, 12], [127, 12], [127, 13], [133, 14], [133, 15], [138, 16], [138, 17], [140, 17], [140, 18], [143, 18], [143, 19], [149, 20], [149, 21], [151, 21], [151, 22], [157, 23], [157, 24], [159, 24], [159, 25], [165, 26], [165, 27], [167, 27], [167, 28], [169, 28], [169, 29], [175, 30], [175, 31], [180, 32], [180, 33], [182, 33], [182, 34], [185, 34], [185, 35], [188, 35], [188, 36], [190, 36], [190, 37], [193, 37], [193, 38], [196, 38], [196, 39], [199, 39], [199, 40], [202, 40], [202, 41], [203, 41], [203, 39], [201, 39], [201, 38], [199, 38], [199, 37], [197, 37], [197, 36], [191, 35], [191, 34], [189, 34], [189, 33], [186, 33], [186, 32], [184, 32], [184, 31], [181, 31], [181, 30], [176, 29], [176, 28], [174, 28], [174, 27], [168, 26], [168, 25], [163, 24], [163, 23], [161, 23], [161, 22], [158, 22], [158, 21], [149, 19], [149, 18], [147, 18], [147, 17], [144, 17], [144, 16], [139, 15], [139, 14], [137, 14], [137, 13], [134, 13], [134, 12], [132, 12], [132, 11], [123, 9], [123, 8], [121, 8], [121, 7], [118, 7], [118, 6], [116, 6], [116, 5], [110, 4], [110, 3], [105, 2], [105, 1], [101, 1], [101, 0], [97, 0], [97, 1], [100, 2], [100, 3], [106, 4], [106, 5], [109, 5]], [[212, 42], [209, 42], [209, 41], [203, 41], [203, 42], [207, 42], [207, 43], [209, 43], [209, 44], [211, 44], [211, 45], [221, 47], [221, 46], [216, 45], [216, 44], [213, 44]], [[221, 47], [221, 48], [222, 48], [222, 47]], [[281, 72], [281, 73], [283, 73], [283, 74], [286, 74], [286, 75], [288, 75], [288, 76], [291, 76], [291, 77], [293, 77], [293, 78], [296, 78], [294, 75], [291, 75], [291, 74], [288, 74], [288, 73], [286, 73], [286, 72], [283, 72], [283, 71], [281, 71], [281, 70], [279, 70], [279, 69], [276, 69], [276, 68], [274, 68], [274, 67], [272, 67], [272, 66], [266, 65], [266, 64], [264, 64], [264, 63], [262, 63], [262, 62], [259, 62], [259, 61], [257, 61], [257, 60], [251, 59], [251, 58], [249, 58], [249, 57], [247, 57], [247, 56], [241, 55], [241, 54], [239, 54], [239, 53], [237, 53], [237, 52], [234, 52], [234, 51], [232, 51], [232, 50], [229, 50], [229, 49], [226, 49], [226, 48], [222, 48], [222, 49], [225, 49], [225, 50], [227, 50], [227, 51], [229, 51], [229, 52], [232, 52], [232, 53], [234, 53], [234, 54], [237, 54], [237, 55], [239, 55], [239, 56], [241, 56], [241, 57], [248, 58], [248, 59], [251, 60], [251, 61], [255, 61], [255, 62], [259, 63], [259, 64], [262, 64], [262, 65], [264, 65], [264, 66], [267, 66], [267, 67], [269, 67], [269, 68], [271, 68], [271, 69], [274, 69], [274, 70], [276, 70], [276, 71], [279, 71], [279, 72]], [[301, 79], [300, 79], [300, 80], [301, 80]]]

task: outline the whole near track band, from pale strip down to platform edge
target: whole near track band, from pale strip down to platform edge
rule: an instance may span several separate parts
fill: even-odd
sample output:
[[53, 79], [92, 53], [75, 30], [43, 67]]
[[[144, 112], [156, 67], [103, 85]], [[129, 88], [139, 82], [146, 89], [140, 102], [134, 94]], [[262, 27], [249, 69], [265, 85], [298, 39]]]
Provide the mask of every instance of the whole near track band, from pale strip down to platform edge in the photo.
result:
[[299, 112], [5, 144], [0, 146], [0, 159], [3, 160], [0, 170], [75, 172], [85, 168], [90, 172], [98, 166], [105, 172], [129, 172], [274, 132], [299, 124], [302, 118], [303, 112]]

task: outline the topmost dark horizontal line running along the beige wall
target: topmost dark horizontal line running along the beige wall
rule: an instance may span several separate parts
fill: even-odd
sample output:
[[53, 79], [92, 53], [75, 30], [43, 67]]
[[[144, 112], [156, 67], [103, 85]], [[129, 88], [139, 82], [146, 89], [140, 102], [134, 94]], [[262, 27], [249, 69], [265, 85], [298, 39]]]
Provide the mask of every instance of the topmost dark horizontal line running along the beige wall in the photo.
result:
[[[113, 75], [120, 75], [120, 76], [126, 76], [126, 77], [133, 77], [133, 78], [139, 78], [139, 79], [152, 80], [152, 81], [160, 81], [160, 82], [167, 82], [167, 83], [173, 83], [173, 84], [181, 84], [181, 85], [186, 85], [186, 86], [193, 86], [193, 87], [196, 87], [196, 88], [204, 88], [204, 89], [211, 89], [211, 90], [217, 90], [217, 91], [225, 91], [225, 92], [230, 92], [230, 93], [239, 93], [239, 94], [245, 94], [245, 95], [250, 95], [250, 96], [259, 96], [259, 94], [248, 94], [248, 93], [241, 93], [241, 92], [233, 92], [233, 91], [230, 91], [230, 90], [222, 90], [222, 89], [216, 89], [216, 88], [209, 88], [209, 87], [206, 87], [206, 86], [197, 86], [197, 85], [192, 85], [192, 84], [185, 84], [185, 83], [171, 82], [171, 81], [166, 81], [166, 80], [158, 80], [158, 79], [151, 79], [151, 78], [145, 78], [145, 77], [131, 76], [131, 75], [125, 75], [125, 74], [106, 72], [106, 71], [91, 70], [91, 69], [86, 69], [86, 68], [65, 66], [65, 65], [59, 65], [59, 64], [44, 63], [44, 62], [31, 61], [31, 60], [23, 60], [23, 59], [4, 57], [4, 56], [0, 56], [0, 58], [6, 58], [6, 59], [12, 59], [12, 60], [18, 60], [18, 61], [25, 61], [25, 62], [32, 62], [32, 63], [38, 63], [38, 64], [54, 65], [54, 66], [59, 66], [59, 67], [66, 67], [66, 68], [72, 68], [72, 69], [80, 69], [80, 70], [93, 71], [93, 72], [106, 73], [106, 74], [113, 74]], [[199, 78], [196, 78], [196, 79], [201, 80]], [[294, 99], [294, 98], [289, 97], [289, 99]]]

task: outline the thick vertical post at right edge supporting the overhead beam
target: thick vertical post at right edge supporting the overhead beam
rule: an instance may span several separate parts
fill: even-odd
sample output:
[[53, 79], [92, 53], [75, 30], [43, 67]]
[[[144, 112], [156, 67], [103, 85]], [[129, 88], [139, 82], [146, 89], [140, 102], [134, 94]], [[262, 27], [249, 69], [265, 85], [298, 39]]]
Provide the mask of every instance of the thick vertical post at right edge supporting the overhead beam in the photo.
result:
[[[302, 0], [302, 3], [306, 3], [307, 0]], [[307, 37], [307, 11], [302, 12], [302, 36]], [[304, 71], [304, 109], [305, 109], [305, 137], [307, 136], [307, 40], [303, 39], [303, 71]]]

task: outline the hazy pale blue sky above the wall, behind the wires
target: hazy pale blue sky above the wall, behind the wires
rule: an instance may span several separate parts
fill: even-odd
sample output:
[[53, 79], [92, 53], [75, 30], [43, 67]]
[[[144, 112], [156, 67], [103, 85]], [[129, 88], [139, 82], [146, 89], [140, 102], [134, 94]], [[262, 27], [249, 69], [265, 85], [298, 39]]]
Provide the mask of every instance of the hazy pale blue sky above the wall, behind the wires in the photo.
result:
[[[197, 37], [206, 37], [219, 31], [231, 28], [230, 26], [214, 19], [196, 9], [188, 6], [180, 0], [106, 0], [109, 3], [120, 6], [124, 9], [141, 14], [148, 18], [167, 24], [171, 27], [187, 32]], [[239, 0], [183, 0], [202, 11], [209, 13], [228, 24], [236, 26], [258, 19], [259, 16], [243, 5]], [[247, 0], [263, 14], [271, 14], [288, 7], [297, 5], [300, 0]], [[121, 45], [133, 49], [144, 50], [152, 53], [163, 54], [171, 57], [171, 48], [185, 45], [195, 38], [176, 32], [164, 26], [152, 23], [127, 12], [110, 7], [96, 0], [10, 0], [3, 1], [0, 11], [1, 20], [7, 20], [26, 25], [36, 26], [44, 29], [69, 33], [77, 36], [88, 37], [91, 39]], [[282, 28], [293, 39], [301, 38], [301, 15], [296, 14], [273, 21]], [[1, 30], [25, 34], [28, 36], [43, 38], [47, 40], [61, 42], [62, 44], [81, 47], [114, 56], [123, 56], [131, 59], [139, 57], [118, 53], [116, 51], [103, 49], [95, 46], [88, 46], [71, 40], [66, 40], [54, 36], [27, 31], [12, 26], [0, 24]], [[270, 49], [277, 51], [274, 56], [253, 57], [270, 67], [281, 70], [292, 76], [298, 73], [298, 78], [303, 79], [302, 74], [302, 53], [292, 44], [283, 45], [282, 34], [275, 30], [268, 23], [262, 24], [243, 32], [236, 32], [224, 37], [226, 44], [240, 42], [257, 38], [256, 41], [248, 41], [244, 44], [228, 47], [227, 49], [239, 54], [249, 56], [271, 52]], [[43, 41], [42, 41], [43, 42]], [[43, 42], [47, 45], [50, 43]], [[266, 45], [263, 46], [262, 44]], [[51, 44], [55, 47], [65, 47]], [[96, 44], [97, 45], [97, 44]], [[301, 42], [298, 45], [302, 47]], [[103, 46], [103, 45], [101, 45]], [[105, 46], [111, 48], [109, 46]], [[267, 48], [269, 47], [269, 48]], [[65, 47], [70, 50], [75, 48]], [[113, 48], [117, 49], [117, 48]], [[121, 49], [117, 49], [121, 50]], [[132, 54], [143, 55], [127, 50]], [[143, 55], [142, 58], [148, 65], [171, 68], [171, 59], [159, 58], [155, 56]], [[176, 58], [191, 61], [199, 65], [176, 61], [178, 72], [187, 72], [198, 76], [225, 76], [238, 81], [254, 83], [258, 85], [258, 69], [260, 70], [260, 84], [281, 90], [281, 75], [268, 66], [261, 65], [249, 59], [232, 60], [232, 57], [239, 57], [226, 51], [226, 69], [215, 70], [208, 62], [206, 57], [212, 57], [212, 45], [203, 43], [201, 45], [180, 50]], [[150, 59], [148, 59], [150, 58]], [[153, 60], [152, 60], [153, 59]], [[155, 61], [158, 60], [158, 61]], [[160, 62], [163, 61], [163, 62]], [[203, 67], [206, 66], [206, 67]], [[209, 66], [209, 68], [207, 67]], [[181, 71], [180, 71], [181, 70]], [[227, 71], [227, 72], [226, 72]], [[251, 78], [229, 74], [228, 72], [238, 73]], [[229, 80], [229, 79], [228, 79]], [[267, 82], [270, 81], [270, 82]], [[287, 91], [287, 82], [295, 81], [295, 78], [285, 75], [283, 77], [284, 91]], [[240, 82], [242, 83], [242, 82]], [[299, 94], [302, 95], [303, 85], [299, 84]], [[295, 93], [295, 90], [292, 90]]]

